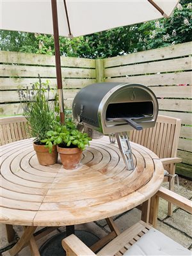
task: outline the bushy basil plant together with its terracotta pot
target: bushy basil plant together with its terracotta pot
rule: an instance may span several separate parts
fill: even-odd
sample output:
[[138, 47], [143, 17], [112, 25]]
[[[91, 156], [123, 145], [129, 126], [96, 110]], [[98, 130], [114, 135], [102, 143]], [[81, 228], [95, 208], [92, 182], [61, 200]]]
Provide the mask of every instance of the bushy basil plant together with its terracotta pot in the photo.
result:
[[57, 145], [63, 167], [74, 170], [79, 166], [82, 152], [86, 145], [90, 145], [90, 140], [87, 133], [77, 130], [74, 122], [65, 122], [65, 125], [56, 125], [54, 130], [47, 131], [47, 138], [42, 142], [49, 148]]

